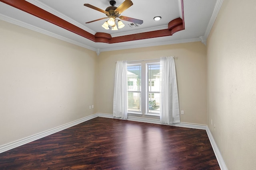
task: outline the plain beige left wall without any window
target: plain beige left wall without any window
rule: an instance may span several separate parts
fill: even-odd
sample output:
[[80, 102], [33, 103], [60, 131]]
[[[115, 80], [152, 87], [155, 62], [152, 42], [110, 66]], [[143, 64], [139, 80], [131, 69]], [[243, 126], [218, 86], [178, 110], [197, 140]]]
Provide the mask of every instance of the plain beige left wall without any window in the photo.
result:
[[0, 20], [0, 145], [96, 113], [96, 53]]

